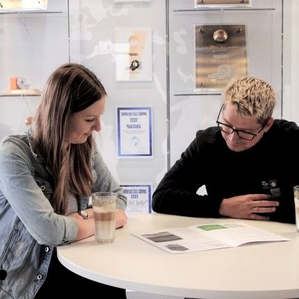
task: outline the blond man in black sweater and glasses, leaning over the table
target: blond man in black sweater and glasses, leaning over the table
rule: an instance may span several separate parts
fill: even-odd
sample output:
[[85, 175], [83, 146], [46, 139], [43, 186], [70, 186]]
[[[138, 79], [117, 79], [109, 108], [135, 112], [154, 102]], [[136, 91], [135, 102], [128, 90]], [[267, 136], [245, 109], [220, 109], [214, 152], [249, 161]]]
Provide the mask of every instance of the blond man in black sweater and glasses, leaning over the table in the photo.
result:
[[[298, 160], [294, 122], [273, 120], [273, 88], [254, 77], [227, 86], [216, 123], [196, 138], [153, 195], [159, 213], [295, 223], [289, 171]], [[296, 173], [296, 172], [295, 172]], [[197, 195], [205, 185], [207, 195]]]

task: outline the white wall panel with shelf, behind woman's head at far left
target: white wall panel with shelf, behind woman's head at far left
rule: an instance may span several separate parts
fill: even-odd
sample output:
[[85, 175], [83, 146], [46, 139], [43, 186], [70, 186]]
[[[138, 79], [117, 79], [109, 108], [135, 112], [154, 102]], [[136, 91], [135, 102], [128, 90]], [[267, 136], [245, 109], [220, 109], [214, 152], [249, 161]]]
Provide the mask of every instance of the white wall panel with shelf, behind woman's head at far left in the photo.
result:
[[[68, 62], [67, 1], [49, 1], [47, 13], [0, 14], [0, 40], [0, 92], [9, 89], [10, 77], [24, 77], [29, 88], [42, 90], [49, 74]], [[0, 96], [0, 139], [24, 131], [38, 102]]]

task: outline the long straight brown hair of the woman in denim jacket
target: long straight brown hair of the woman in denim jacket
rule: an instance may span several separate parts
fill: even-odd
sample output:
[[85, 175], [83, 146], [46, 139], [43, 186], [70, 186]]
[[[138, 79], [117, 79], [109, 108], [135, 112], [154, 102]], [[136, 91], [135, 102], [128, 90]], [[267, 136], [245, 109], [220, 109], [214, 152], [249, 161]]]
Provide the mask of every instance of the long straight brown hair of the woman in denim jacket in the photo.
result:
[[88, 195], [92, 186], [92, 136], [86, 143], [68, 144], [70, 116], [106, 95], [97, 76], [83, 65], [67, 63], [49, 77], [35, 115], [33, 149], [45, 161], [54, 179], [51, 200], [64, 215], [70, 193]]

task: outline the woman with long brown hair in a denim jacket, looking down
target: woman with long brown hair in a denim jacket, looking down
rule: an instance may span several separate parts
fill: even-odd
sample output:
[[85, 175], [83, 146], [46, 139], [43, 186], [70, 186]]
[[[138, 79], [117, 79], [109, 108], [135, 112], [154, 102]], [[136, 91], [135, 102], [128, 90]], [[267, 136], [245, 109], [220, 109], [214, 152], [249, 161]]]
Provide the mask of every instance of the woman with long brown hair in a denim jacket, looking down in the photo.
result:
[[80, 277], [56, 257], [57, 245], [95, 233], [93, 192], [118, 193], [116, 227], [127, 223], [127, 199], [92, 138], [105, 101], [95, 74], [62, 65], [47, 80], [33, 126], [2, 140], [0, 298], [77, 298], [93, 290], [125, 298], [125, 290]]

